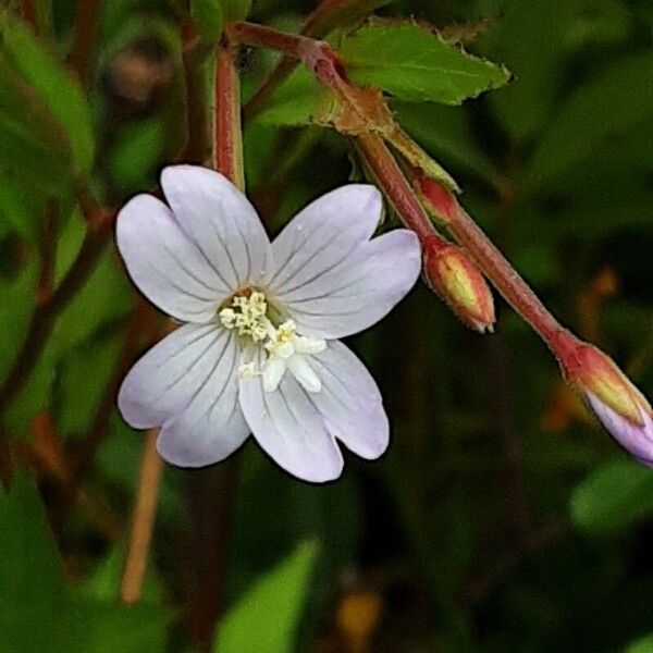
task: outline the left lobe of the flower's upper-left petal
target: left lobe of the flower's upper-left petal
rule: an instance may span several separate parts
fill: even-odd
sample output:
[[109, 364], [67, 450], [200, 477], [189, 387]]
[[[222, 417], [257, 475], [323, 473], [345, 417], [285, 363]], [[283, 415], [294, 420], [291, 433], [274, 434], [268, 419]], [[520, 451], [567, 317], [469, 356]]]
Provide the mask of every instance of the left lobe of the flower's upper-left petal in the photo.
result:
[[178, 320], [208, 322], [231, 294], [170, 209], [151, 195], [137, 195], [120, 211], [116, 241], [134, 283]]

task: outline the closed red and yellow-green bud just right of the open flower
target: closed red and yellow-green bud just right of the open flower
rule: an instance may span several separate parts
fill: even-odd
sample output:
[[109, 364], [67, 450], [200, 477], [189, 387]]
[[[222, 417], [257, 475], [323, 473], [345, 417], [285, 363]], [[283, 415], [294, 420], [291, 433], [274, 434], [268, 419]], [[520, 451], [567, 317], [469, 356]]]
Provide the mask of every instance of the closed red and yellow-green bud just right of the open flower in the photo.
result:
[[423, 271], [431, 287], [471, 329], [493, 331], [494, 300], [485, 279], [465, 252], [440, 236], [422, 243]]

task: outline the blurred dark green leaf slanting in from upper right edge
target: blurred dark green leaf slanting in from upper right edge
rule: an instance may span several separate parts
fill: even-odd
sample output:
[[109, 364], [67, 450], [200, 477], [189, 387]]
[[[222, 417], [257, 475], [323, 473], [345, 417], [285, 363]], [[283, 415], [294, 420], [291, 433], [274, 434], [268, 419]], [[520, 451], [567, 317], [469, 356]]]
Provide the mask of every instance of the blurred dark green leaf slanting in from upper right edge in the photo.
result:
[[534, 151], [531, 183], [545, 185], [594, 148], [615, 138], [653, 112], [653, 54], [633, 54], [613, 62], [580, 86], [562, 107]]

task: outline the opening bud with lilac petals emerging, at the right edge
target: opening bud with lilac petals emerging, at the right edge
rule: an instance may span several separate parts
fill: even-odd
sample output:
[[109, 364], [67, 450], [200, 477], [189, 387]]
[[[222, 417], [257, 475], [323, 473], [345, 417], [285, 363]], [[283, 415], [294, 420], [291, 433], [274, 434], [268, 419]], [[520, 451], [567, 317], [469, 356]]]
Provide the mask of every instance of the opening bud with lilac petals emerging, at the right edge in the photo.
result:
[[653, 466], [653, 412], [642, 393], [603, 352], [574, 342], [560, 361], [603, 428], [638, 460]]

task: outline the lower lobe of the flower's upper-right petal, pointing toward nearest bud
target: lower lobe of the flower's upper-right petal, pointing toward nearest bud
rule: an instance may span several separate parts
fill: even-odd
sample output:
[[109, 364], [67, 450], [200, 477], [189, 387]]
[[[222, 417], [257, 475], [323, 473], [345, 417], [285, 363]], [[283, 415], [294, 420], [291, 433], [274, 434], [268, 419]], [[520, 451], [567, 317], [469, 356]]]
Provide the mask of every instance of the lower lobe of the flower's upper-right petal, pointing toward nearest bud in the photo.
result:
[[274, 301], [301, 335], [340, 338], [386, 316], [415, 285], [420, 269], [417, 236], [396, 230], [359, 243], [336, 267], [304, 284], [288, 282]]

